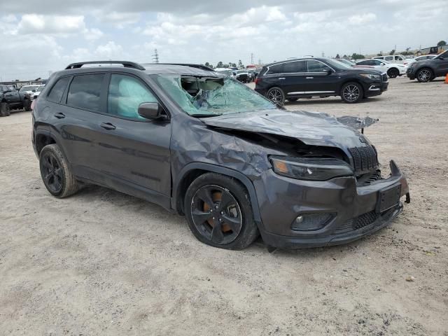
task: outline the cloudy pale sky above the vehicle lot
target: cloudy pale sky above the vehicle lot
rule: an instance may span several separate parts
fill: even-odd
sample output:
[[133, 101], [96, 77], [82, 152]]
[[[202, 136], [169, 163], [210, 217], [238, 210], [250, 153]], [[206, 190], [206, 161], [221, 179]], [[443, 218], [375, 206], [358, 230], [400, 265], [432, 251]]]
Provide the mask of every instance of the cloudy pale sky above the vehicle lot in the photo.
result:
[[71, 62], [274, 62], [448, 41], [448, 0], [0, 0], [0, 81]]

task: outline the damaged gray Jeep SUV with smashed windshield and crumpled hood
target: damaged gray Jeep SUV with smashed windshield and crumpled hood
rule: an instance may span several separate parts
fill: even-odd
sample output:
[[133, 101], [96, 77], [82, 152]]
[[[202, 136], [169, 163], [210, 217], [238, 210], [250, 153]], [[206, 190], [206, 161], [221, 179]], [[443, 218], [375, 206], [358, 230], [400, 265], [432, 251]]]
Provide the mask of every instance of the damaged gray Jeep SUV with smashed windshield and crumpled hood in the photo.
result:
[[370, 234], [409, 202], [356, 130], [373, 121], [277, 109], [205, 66], [84, 62], [34, 102], [32, 141], [55, 197], [96, 184], [185, 215], [211, 246], [302, 248]]

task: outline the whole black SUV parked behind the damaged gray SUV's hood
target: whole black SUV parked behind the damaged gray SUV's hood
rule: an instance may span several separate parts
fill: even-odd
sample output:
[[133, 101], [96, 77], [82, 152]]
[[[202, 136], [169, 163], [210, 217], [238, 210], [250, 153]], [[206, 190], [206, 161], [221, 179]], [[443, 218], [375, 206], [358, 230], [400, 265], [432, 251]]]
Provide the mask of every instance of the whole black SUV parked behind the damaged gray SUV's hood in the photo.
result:
[[353, 69], [328, 58], [290, 59], [263, 66], [255, 79], [255, 91], [276, 104], [285, 99], [340, 96], [346, 103], [358, 103], [387, 90], [386, 73]]

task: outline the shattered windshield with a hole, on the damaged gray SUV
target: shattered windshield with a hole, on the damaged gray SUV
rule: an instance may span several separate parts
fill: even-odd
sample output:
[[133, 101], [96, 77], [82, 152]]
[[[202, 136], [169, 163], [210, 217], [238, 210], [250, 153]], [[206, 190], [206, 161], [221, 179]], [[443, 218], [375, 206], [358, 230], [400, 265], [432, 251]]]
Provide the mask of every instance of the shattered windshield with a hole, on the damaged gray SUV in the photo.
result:
[[229, 77], [160, 75], [156, 78], [174, 102], [193, 116], [276, 109], [265, 97]]

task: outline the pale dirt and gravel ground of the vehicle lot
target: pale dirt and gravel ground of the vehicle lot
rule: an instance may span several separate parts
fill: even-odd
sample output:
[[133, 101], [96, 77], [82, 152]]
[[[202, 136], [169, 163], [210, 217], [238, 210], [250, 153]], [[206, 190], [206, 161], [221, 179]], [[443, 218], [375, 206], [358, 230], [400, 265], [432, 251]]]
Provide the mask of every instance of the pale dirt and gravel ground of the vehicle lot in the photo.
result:
[[134, 197], [57, 200], [30, 113], [0, 118], [0, 334], [448, 335], [448, 85], [390, 82], [361, 104], [287, 104], [380, 118], [366, 135], [409, 178], [393, 225], [331, 248], [224, 251]]

